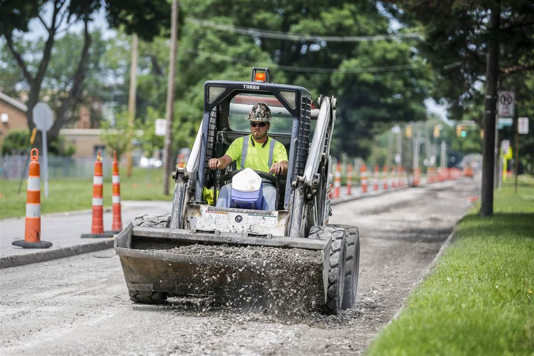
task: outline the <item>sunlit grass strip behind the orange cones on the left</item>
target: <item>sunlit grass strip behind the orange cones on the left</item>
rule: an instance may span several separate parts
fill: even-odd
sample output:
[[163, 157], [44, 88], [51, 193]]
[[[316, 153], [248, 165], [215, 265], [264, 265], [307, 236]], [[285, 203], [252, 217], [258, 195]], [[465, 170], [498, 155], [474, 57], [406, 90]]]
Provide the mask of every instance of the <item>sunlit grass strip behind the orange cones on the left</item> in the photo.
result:
[[[121, 167], [121, 200], [172, 200], [174, 184], [171, 181], [170, 195], [163, 194], [163, 170], [134, 168], [127, 177]], [[92, 178], [50, 179], [49, 197], [44, 197], [44, 181], [41, 179], [41, 213], [91, 209]], [[19, 180], [0, 179], [0, 218], [26, 215], [26, 186], [23, 181], [17, 193]], [[111, 177], [104, 179], [104, 206], [111, 207]]]

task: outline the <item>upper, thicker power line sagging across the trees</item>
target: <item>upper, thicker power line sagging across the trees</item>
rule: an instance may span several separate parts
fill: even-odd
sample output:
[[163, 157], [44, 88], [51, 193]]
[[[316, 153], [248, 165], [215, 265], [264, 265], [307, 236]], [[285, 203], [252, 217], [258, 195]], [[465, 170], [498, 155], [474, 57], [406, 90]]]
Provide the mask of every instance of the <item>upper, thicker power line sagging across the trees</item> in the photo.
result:
[[223, 31], [230, 31], [242, 35], [263, 37], [263, 38], [276, 38], [276, 39], [288, 39], [290, 41], [314, 41], [314, 42], [369, 42], [369, 41], [384, 41], [386, 39], [400, 39], [400, 38], [420, 38], [421, 34], [418, 32], [405, 33], [405, 34], [391, 34], [391, 35], [377, 35], [377, 36], [320, 36], [320, 35], [304, 35], [281, 31], [261, 30], [250, 27], [240, 27], [233, 25], [225, 25], [224, 23], [218, 23], [210, 20], [199, 19], [196, 17], [188, 16], [185, 18], [186, 22], [195, 23], [206, 27], [215, 28]]

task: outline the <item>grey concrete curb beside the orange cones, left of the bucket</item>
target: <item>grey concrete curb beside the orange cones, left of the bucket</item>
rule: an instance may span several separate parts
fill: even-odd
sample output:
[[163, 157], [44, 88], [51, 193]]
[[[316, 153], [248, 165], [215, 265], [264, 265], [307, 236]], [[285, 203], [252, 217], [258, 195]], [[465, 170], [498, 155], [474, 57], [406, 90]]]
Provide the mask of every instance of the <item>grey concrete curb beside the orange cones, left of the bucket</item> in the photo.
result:
[[0, 268], [23, 266], [30, 263], [46, 262], [53, 259], [87, 254], [113, 247], [114, 239], [105, 239], [95, 243], [62, 247], [55, 250], [41, 250], [33, 254], [7, 256], [0, 258]]

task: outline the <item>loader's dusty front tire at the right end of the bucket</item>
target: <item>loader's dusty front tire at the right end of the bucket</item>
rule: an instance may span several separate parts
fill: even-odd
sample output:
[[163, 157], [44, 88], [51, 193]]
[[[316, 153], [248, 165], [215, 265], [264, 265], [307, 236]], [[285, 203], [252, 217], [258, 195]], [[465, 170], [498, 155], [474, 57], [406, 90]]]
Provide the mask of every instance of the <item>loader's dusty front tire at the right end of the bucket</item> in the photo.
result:
[[332, 239], [326, 303], [323, 305], [323, 311], [326, 314], [337, 315], [341, 313], [343, 305], [348, 233], [344, 229], [336, 229], [328, 226], [313, 226], [308, 237], [319, 240]]

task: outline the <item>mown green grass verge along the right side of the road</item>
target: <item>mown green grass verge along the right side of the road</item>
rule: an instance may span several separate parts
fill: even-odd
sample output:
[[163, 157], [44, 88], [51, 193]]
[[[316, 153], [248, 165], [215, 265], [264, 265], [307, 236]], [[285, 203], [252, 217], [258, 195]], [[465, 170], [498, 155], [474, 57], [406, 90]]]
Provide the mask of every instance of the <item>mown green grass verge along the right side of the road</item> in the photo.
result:
[[454, 244], [368, 355], [534, 355], [534, 179], [496, 191], [494, 215], [475, 207]]

